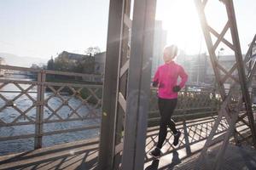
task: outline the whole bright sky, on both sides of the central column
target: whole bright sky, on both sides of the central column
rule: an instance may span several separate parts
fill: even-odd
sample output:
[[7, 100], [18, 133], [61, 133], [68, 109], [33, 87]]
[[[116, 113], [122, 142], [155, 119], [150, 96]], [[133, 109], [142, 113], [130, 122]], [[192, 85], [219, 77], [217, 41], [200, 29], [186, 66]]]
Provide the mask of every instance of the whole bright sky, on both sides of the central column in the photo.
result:
[[[207, 16], [221, 31], [224, 5], [209, 2]], [[234, 4], [241, 49], [246, 53], [256, 33], [256, 1], [234, 0]], [[109, 0], [0, 0], [0, 53], [49, 59], [63, 50], [82, 54], [98, 46], [105, 51], [108, 6]], [[158, 0], [156, 20], [163, 20], [168, 44], [177, 44], [187, 54], [207, 51], [194, 0]]]

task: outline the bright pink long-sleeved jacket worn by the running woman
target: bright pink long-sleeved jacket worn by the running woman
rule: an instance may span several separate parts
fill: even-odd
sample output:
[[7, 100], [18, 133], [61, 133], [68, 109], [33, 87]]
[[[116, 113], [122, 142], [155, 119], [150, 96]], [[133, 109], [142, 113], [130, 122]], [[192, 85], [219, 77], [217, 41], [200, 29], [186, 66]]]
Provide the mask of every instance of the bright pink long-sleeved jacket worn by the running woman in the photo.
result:
[[174, 61], [158, 67], [153, 80], [153, 82], [158, 82], [158, 97], [162, 99], [177, 99], [177, 92], [172, 91], [172, 88], [177, 86], [177, 77], [182, 78], [178, 86], [183, 88], [188, 80], [188, 75], [183, 67], [177, 65]]

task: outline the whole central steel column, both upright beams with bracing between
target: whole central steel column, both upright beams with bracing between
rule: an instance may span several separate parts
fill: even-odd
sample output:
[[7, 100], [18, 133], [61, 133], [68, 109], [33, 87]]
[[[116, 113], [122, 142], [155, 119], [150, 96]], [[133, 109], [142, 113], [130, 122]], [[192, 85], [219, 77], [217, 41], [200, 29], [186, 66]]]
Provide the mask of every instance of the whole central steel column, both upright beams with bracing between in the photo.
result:
[[155, 3], [110, 1], [100, 169], [143, 169]]

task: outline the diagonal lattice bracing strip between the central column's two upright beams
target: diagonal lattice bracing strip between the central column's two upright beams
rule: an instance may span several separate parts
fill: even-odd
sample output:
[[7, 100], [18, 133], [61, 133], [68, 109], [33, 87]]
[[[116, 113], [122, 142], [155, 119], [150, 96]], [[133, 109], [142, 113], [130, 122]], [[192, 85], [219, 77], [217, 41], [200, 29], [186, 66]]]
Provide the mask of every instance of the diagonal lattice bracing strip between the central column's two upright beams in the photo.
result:
[[132, 20], [131, 14], [131, 0], [125, 0], [122, 7], [122, 25], [121, 25], [121, 46], [119, 48], [119, 71], [117, 82], [116, 95], [116, 118], [115, 118], [115, 148], [114, 148], [114, 162], [113, 169], [121, 167], [122, 150], [124, 147], [124, 127], [125, 127], [125, 111], [127, 98], [127, 78], [130, 65], [130, 35]]

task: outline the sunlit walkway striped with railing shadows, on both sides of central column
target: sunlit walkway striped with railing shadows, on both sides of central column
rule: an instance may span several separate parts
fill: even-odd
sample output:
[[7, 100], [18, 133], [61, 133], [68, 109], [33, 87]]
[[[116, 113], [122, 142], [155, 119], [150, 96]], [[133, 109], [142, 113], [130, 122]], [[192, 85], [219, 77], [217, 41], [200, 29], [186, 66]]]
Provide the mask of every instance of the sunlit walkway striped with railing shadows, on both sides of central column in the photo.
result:
[[[180, 143], [174, 148], [172, 146], [172, 133], [168, 133], [160, 161], [148, 156], [148, 152], [154, 149], [156, 144], [158, 127], [148, 128], [145, 168], [172, 169], [177, 164], [183, 165], [183, 162], [187, 162], [189, 158], [192, 159], [205, 143], [213, 122], [214, 117], [178, 122], [177, 127], [183, 133]], [[223, 120], [222, 126], [218, 127], [218, 133], [223, 133], [225, 129], [226, 124]], [[238, 125], [237, 129], [240, 132], [247, 131], [242, 124]], [[253, 153], [256, 156], [256, 152]], [[40, 150], [1, 156], [0, 169], [96, 169], [97, 156], [98, 139], [82, 140], [58, 144]], [[253, 161], [255, 162], [255, 159]]]

